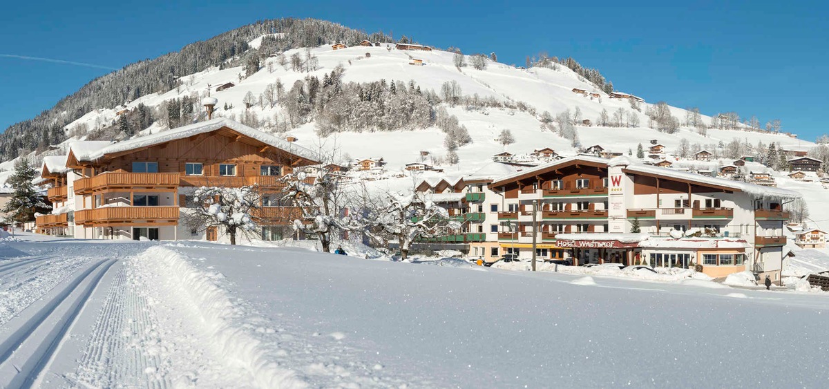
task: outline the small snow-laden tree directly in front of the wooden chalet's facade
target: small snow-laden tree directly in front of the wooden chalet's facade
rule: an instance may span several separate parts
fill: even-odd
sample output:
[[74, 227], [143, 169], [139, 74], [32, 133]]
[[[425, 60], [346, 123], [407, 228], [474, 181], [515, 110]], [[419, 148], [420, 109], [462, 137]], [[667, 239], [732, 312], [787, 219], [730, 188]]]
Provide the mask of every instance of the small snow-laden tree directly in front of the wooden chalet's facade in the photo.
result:
[[199, 187], [193, 192], [193, 201], [200, 207], [187, 216], [191, 228], [221, 227], [231, 245], [236, 244], [240, 232], [256, 231], [255, 212], [262, 202], [258, 187]]

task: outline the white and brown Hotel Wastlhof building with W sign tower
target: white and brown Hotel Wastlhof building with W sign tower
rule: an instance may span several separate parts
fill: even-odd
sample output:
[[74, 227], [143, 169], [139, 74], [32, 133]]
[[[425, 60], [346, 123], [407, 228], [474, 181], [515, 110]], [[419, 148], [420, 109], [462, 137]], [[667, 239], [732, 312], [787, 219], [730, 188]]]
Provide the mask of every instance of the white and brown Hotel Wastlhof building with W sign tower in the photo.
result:
[[488, 187], [494, 197], [487, 197], [486, 207], [500, 210], [499, 223], [491, 226], [499, 228], [501, 253], [528, 259], [535, 236], [541, 259], [696, 264], [712, 277], [751, 270], [777, 283], [788, 220], [782, 204], [800, 197], [624, 157], [565, 158], [499, 177]]

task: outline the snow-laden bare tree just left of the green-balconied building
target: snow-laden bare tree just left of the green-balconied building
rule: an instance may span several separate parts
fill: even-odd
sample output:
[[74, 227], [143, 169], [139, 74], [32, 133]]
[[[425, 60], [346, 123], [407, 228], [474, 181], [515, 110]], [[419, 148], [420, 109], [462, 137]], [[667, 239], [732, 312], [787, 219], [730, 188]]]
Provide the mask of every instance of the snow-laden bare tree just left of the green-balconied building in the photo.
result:
[[390, 236], [400, 245], [400, 257], [409, 257], [412, 243], [421, 238], [445, 236], [460, 228], [446, 209], [418, 192], [390, 192], [381, 199], [382, 206], [372, 209], [366, 220], [371, 222], [368, 233]]

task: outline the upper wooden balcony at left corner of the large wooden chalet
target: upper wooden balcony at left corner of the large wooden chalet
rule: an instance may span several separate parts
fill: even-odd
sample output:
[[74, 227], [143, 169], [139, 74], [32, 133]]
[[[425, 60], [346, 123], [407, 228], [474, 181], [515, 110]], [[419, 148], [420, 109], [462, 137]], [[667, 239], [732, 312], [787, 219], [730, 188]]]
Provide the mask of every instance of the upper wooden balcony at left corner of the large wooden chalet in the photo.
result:
[[178, 187], [178, 173], [102, 173], [95, 177], [75, 180], [75, 194], [86, 195], [92, 192], [129, 190], [137, 188]]

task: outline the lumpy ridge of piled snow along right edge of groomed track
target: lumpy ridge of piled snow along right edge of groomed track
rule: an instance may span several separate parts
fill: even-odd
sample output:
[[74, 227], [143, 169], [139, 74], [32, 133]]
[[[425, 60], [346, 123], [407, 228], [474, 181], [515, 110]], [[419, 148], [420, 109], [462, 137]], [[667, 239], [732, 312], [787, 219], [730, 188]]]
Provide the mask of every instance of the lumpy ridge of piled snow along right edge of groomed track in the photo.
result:
[[[192, 326], [201, 326], [225, 362], [250, 372], [255, 387], [305, 387], [295, 373], [277, 366], [264, 357], [264, 350], [249, 326], [235, 320], [235, 305], [224, 289], [215, 284], [216, 275], [197, 270], [188, 258], [176, 251], [154, 246], [133, 258], [132, 265], [143, 267], [177, 285], [170, 293], [186, 296], [199, 317], [182, 318]], [[240, 382], [240, 385], [243, 383]]]

